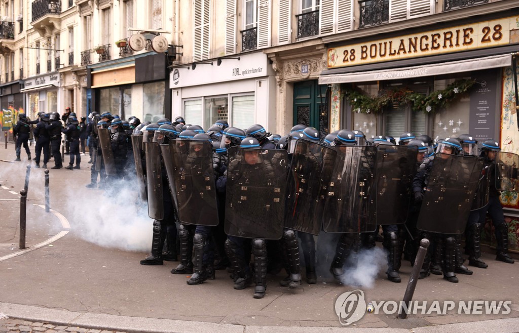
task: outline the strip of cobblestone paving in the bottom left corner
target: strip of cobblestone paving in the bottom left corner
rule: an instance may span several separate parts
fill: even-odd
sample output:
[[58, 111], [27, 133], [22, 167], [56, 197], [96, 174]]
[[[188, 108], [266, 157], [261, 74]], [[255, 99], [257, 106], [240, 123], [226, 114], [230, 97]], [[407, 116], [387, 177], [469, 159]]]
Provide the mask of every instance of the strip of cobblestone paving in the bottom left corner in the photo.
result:
[[0, 319], [1, 333], [127, 333], [83, 327], [57, 326], [48, 323], [34, 323], [13, 318]]

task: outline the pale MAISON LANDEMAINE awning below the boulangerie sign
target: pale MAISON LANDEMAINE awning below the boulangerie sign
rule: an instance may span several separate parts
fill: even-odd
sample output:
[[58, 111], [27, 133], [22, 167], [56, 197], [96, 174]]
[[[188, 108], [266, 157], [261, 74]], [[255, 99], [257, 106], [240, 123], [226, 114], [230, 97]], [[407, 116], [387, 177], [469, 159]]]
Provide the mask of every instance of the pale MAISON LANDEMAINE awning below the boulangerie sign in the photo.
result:
[[319, 84], [400, 80], [424, 76], [461, 73], [472, 70], [506, 67], [511, 65], [512, 56], [510, 54], [499, 54], [460, 61], [370, 71], [355, 72], [353, 71], [353, 67], [346, 67], [345, 70], [347, 70], [348, 73], [327, 74], [327, 70], [324, 70], [319, 76]]

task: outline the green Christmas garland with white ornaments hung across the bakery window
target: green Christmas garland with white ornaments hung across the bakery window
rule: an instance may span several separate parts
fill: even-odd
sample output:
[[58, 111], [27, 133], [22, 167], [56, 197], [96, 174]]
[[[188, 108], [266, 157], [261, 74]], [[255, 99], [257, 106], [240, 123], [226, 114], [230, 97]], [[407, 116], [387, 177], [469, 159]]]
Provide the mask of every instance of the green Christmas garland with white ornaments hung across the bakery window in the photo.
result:
[[443, 90], [436, 90], [429, 95], [420, 94], [409, 89], [384, 90], [380, 96], [372, 97], [356, 88], [347, 88], [344, 95], [350, 100], [351, 110], [357, 113], [381, 113], [384, 109], [398, 108], [402, 104], [411, 103], [415, 112], [436, 112], [446, 108], [450, 103], [467, 93], [476, 83], [474, 80], [461, 79], [447, 85]]

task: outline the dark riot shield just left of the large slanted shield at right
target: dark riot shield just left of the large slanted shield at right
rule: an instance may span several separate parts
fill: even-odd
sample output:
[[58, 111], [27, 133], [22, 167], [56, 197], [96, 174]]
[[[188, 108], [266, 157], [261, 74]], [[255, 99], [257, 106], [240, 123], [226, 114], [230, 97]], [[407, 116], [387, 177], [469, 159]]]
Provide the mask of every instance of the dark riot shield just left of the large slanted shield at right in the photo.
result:
[[375, 158], [376, 224], [402, 224], [407, 219], [416, 173], [416, 146], [377, 146]]

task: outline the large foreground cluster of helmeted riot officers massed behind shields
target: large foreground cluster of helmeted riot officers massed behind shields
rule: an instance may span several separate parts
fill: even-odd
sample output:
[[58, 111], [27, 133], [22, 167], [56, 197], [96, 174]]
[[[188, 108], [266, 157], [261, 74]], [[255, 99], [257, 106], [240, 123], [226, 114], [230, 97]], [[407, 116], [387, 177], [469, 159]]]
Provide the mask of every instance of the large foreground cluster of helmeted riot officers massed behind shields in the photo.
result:
[[[45, 117], [45, 116], [43, 116]], [[145, 149], [136, 149], [135, 142], [158, 142], [167, 144], [170, 139], [209, 141], [212, 144], [212, 170], [214, 172], [216, 201], [218, 207], [217, 220], [212, 226], [206, 223], [200, 225], [180, 224], [177, 229], [177, 209], [175, 199], [168, 183], [168, 173], [164, 167], [164, 157], [160, 155], [162, 165], [159, 173], [162, 179], [162, 203], [160, 216], [153, 222], [153, 241], [151, 253], [143, 260], [142, 265], [163, 265], [163, 260], [176, 261], [180, 256], [180, 263], [171, 273], [191, 274], [187, 284], [196, 285], [208, 279], [215, 278], [216, 269], [227, 269], [231, 272], [230, 277], [234, 280], [235, 289], [243, 289], [255, 283], [254, 298], [263, 298], [266, 291], [267, 272], [277, 273], [276, 267], [284, 267], [287, 276], [280, 281], [283, 286], [296, 288], [301, 284], [301, 268], [299, 267], [299, 248], [304, 255], [306, 269], [306, 281], [310, 284], [317, 283], [316, 273], [316, 243], [312, 234], [302, 231], [284, 228], [280, 240], [265, 240], [254, 238], [247, 241], [246, 238], [227, 236], [224, 230], [225, 219], [225, 193], [227, 184], [227, 169], [229, 161], [227, 150], [231, 147], [262, 149], [262, 150], [290, 150], [291, 142], [296, 139], [309, 140], [319, 143], [325, 147], [339, 146], [378, 146], [396, 145], [397, 142], [391, 137], [376, 136], [371, 139], [365, 138], [360, 131], [349, 131], [342, 129], [327, 135], [322, 141], [319, 140], [317, 129], [305, 125], [294, 126], [290, 133], [285, 136], [271, 135], [262, 125], [253, 125], [246, 130], [229, 127], [227, 121], [219, 120], [207, 131], [201, 126], [186, 124], [182, 117], [176, 117], [172, 123], [163, 118], [156, 123], [141, 123], [138, 118], [131, 117], [128, 122], [121, 121], [109, 112], [90, 115], [88, 132], [92, 151], [91, 182], [86, 185], [93, 189], [98, 186], [106, 188], [108, 180], [134, 179], [135, 175], [140, 177], [139, 169], [143, 170], [146, 177], [146, 154]], [[44, 119], [43, 119], [44, 120]], [[45, 120], [44, 120], [45, 121]], [[91, 124], [91, 125], [90, 125]], [[115, 172], [107, 175], [104, 166], [105, 150], [101, 149], [99, 140], [100, 129], [109, 129], [110, 155], [115, 162]], [[132, 137], [138, 137], [133, 140]], [[133, 142], [133, 143], [132, 143]], [[405, 224], [383, 225], [383, 246], [387, 250], [388, 269], [386, 271], [388, 280], [401, 282], [399, 268], [402, 255], [404, 259], [414, 264], [419, 247], [419, 240], [428, 238], [431, 246], [428, 249], [425, 262], [422, 265], [420, 279], [426, 278], [430, 273], [443, 274], [444, 279], [449, 282], [458, 282], [456, 273], [472, 274], [463, 263], [461, 251], [462, 235], [430, 234], [417, 229], [416, 224], [420, 211], [421, 202], [427, 187], [427, 179], [434, 162], [435, 152], [453, 155], [480, 155], [484, 158], [485, 170], [489, 172], [489, 199], [484, 207], [470, 212], [467, 228], [465, 231], [466, 245], [465, 254], [468, 254], [468, 264], [477, 268], [487, 268], [481, 259], [480, 235], [485, 216], [488, 212], [495, 227], [497, 239], [497, 260], [513, 263], [514, 260], [508, 255], [508, 232], [504, 222], [504, 215], [499, 202], [499, 193], [495, 182], [495, 155], [500, 150], [499, 144], [494, 140], [485, 140], [480, 146], [469, 134], [463, 134], [458, 138], [439, 139], [433, 142], [427, 135], [414, 136], [404, 133], [398, 141], [398, 145], [417, 147], [416, 176], [409, 189], [409, 211]], [[105, 147], [106, 148], [106, 147]], [[481, 150], [481, 153], [480, 153]], [[189, 154], [189, 151], [185, 152]], [[290, 155], [290, 154], [289, 154]], [[112, 158], [112, 157], [111, 157]], [[244, 160], [247, 161], [247, 155]], [[187, 157], [189, 159], [189, 157]], [[194, 161], [194, 160], [193, 160]], [[194, 162], [193, 162], [194, 163]], [[149, 167], [149, 166], [148, 166]], [[149, 173], [149, 169], [148, 169]], [[148, 175], [148, 177], [150, 177]], [[148, 183], [149, 184], [149, 183]], [[156, 191], [148, 186], [147, 196]], [[170, 192], [171, 191], [171, 192]], [[145, 196], [146, 194], [144, 194]], [[146, 198], [141, 198], [146, 200]], [[204, 209], [196, 207], [195, 209]], [[148, 213], [151, 211], [148, 205]], [[152, 217], [153, 214], [150, 214]], [[153, 217], [152, 217], [153, 218]], [[371, 233], [343, 233], [340, 235], [336, 245], [335, 256], [330, 267], [334, 278], [340, 282], [344, 281], [345, 264], [355, 264], [357, 255], [361, 249], [375, 247], [375, 240], [380, 238], [378, 226]], [[251, 263], [252, 254], [252, 263]]]

